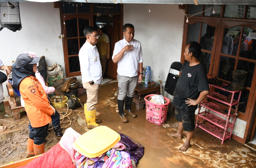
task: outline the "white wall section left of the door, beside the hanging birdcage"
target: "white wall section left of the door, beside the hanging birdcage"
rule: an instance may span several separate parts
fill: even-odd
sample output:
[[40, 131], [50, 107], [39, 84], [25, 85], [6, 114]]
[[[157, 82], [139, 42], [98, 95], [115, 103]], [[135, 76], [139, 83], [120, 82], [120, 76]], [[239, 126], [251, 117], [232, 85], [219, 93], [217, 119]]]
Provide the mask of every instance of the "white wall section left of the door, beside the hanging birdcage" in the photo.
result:
[[[11, 66], [19, 54], [25, 51], [36, 52], [37, 57], [45, 56], [48, 66], [54, 62], [61, 65], [65, 75], [61, 34], [60, 11], [53, 3], [20, 2], [22, 29], [0, 32], [0, 59], [4, 65]], [[7, 100], [6, 84], [3, 84]]]

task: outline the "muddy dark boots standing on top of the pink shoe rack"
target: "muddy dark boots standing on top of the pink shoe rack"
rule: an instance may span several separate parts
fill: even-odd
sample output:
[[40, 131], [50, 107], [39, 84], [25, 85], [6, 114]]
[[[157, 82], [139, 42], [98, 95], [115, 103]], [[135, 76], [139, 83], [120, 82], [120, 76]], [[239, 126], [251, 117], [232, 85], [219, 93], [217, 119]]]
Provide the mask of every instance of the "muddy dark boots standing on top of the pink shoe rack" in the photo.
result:
[[247, 72], [243, 70], [232, 71], [232, 82], [227, 86], [223, 86], [223, 88], [228, 91], [244, 90], [246, 75], [247, 75]]

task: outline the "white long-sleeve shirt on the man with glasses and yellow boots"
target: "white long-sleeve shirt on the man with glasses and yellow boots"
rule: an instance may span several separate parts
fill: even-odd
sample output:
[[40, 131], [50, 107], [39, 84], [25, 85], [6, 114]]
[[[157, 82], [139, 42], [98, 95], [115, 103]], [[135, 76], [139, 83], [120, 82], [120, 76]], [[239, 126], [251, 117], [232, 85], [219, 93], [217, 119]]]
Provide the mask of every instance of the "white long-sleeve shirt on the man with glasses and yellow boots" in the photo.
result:
[[80, 49], [78, 56], [82, 82], [94, 81], [97, 84], [101, 84], [102, 71], [100, 55], [96, 45], [93, 46], [86, 41]]

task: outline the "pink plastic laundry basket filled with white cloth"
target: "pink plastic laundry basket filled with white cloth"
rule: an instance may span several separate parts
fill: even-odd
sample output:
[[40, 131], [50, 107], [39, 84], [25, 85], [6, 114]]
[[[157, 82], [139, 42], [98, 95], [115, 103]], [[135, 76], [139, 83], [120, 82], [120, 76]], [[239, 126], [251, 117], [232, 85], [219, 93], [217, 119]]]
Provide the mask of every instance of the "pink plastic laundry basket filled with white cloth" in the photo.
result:
[[154, 95], [156, 94], [147, 95], [144, 98], [146, 101], [146, 120], [156, 125], [163, 125], [166, 122], [168, 105], [170, 103], [170, 100], [164, 97], [164, 100], [167, 103], [163, 105], [158, 105], [150, 102], [151, 96]]

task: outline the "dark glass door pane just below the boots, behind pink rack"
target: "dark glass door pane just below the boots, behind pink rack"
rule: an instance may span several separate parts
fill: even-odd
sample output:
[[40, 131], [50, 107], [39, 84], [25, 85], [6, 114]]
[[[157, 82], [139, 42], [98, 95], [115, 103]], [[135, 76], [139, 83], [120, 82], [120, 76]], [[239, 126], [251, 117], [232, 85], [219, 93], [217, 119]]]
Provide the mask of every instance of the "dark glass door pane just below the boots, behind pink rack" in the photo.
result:
[[[239, 106], [238, 106], [238, 111], [245, 113], [247, 102], [248, 102], [248, 97], [249, 97], [250, 91], [247, 89], [244, 89], [241, 93], [240, 100], [239, 100]], [[237, 100], [239, 96], [239, 92], [235, 93], [234, 99]], [[236, 109], [235, 106], [232, 106], [233, 109]]]

